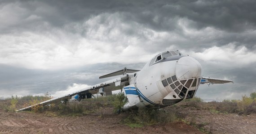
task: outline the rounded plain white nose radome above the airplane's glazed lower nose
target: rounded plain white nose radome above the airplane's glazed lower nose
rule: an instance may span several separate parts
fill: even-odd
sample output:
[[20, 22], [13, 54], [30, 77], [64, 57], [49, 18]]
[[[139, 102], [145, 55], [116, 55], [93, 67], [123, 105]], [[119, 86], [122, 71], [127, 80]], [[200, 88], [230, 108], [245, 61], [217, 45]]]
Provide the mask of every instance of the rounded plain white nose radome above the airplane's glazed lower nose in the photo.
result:
[[178, 79], [190, 79], [202, 76], [201, 64], [192, 57], [185, 56], [176, 63], [176, 76]]

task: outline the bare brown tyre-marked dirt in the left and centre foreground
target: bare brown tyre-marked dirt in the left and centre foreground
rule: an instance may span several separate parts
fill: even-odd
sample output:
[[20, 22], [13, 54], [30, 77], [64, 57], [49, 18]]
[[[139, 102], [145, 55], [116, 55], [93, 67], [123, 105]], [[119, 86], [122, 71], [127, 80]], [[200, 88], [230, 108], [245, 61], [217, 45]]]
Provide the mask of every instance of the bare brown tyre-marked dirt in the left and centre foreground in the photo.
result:
[[201, 134], [184, 122], [130, 128], [120, 123], [124, 114], [108, 114], [112, 109], [83, 117], [46, 117], [37, 113], [6, 113], [3, 110], [0, 113], [0, 134]]

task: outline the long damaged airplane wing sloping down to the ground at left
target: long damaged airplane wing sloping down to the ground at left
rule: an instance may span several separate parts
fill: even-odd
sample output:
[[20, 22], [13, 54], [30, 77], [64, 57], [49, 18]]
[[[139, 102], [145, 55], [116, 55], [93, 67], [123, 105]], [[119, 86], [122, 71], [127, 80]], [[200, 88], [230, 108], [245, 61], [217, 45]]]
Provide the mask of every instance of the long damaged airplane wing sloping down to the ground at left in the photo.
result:
[[[71, 98], [71, 96], [75, 96], [76, 94], [78, 94], [78, 95], [83, 95], [83, 94], [86, 95], [87, 93], [96, 94], [96, 93], [99, 93], [99, 89], [102, 87], [104, 88], [104, 92], [106, 93], [106, 95], [110, 95], [110, 94], [112, 94], [111, 91], [113, 89], [117, 90], [115, 87], [118, 87], [120, 89], [121, 87], [125, 86], [128, 82], [128, 78], [129, 78], [128, 75], [122, 75], [115, 79], [108, 80], [108, 81], [102, 82], [100, 84], [96, 84], [96, 85], [88, 87], [88, 88], [80, 89], [79, 91], [73, 92], [71, 94], [56, 97], [56, 98], [46, 100], [46, 101], [43, 101], [43, 102], [35, 104], [35, 105], [31, 105], [31, 106], [23, 108], [23, 109], [19, 109], [19, 110], [17, 110], [17, 112], [26, 110], [26, 109], [31, 109], [33, 106], [36, 106], [36, 105], [47, 105], [47, 104], [54, 103], [57, 101], [65, 100], [66, 98]], [[107, 88], [107, 87], [112, 87], [112, 88]]]

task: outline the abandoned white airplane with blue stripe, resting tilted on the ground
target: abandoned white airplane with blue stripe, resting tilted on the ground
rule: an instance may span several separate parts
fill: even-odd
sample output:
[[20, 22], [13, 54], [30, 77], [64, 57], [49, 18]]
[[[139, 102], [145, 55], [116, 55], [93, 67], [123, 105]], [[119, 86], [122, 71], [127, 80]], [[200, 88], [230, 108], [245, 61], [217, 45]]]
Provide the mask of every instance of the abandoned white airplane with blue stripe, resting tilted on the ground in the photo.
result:
[[[200, 84], [233, 83], [202, 76], [202, 66], [189, 55], [179, 50], [164, 51], [154, 56], [141, 70], [127, 69], [100, 76], [99, 79], [117, 76], [77, 92], [46, 100], [36, 105], [45, 105], [70, 98], [80, 101], [92, 98], [93, 94], [111, 95], [121, 89], [128, 101], [123, 111], [137, 108], [163, 108], [195, 96]], [[31, 109], [35, 105], [17, 111]]]

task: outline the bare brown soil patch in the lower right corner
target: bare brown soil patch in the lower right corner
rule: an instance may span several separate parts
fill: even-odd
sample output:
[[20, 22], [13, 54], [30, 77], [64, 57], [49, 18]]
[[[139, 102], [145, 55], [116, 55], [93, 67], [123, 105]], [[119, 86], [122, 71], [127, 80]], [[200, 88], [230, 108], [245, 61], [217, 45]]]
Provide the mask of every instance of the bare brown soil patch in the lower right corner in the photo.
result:
[[256, 134], [256, 114], [238, 115], [235, 113], [214, 113], [208, 109], [187, 107], [181, 113], [185, 120], [204, 128], [212, 134]]

